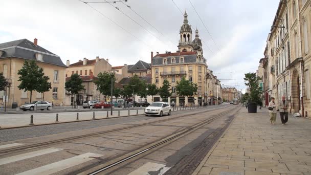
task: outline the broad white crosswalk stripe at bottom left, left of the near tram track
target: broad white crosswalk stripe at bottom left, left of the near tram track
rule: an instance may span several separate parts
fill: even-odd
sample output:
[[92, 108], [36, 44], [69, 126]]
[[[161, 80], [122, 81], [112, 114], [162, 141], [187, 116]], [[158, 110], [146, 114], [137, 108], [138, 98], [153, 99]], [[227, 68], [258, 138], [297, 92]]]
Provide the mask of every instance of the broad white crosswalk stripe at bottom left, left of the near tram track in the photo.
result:
[[65, 159], [62, 161], [58, 161], [55, 163], [51, 163], [45, 166], [41, 166], [38, 168], [34, 168], [25, 172], [18, 173], [18, 175], [26, 175], [26, 174], [53, 174], [55, 172], [67, 169], [69, 167], [79, 165], [81, 163], [93, 160], [95, 158], [102, 157], [103, 155], [93, 154], [91, 152], [87, 152], [85, 154], [75, 156], [69, 159]]

